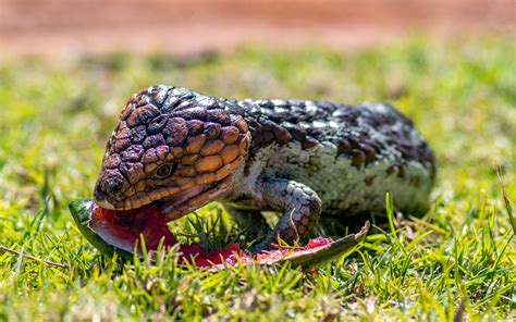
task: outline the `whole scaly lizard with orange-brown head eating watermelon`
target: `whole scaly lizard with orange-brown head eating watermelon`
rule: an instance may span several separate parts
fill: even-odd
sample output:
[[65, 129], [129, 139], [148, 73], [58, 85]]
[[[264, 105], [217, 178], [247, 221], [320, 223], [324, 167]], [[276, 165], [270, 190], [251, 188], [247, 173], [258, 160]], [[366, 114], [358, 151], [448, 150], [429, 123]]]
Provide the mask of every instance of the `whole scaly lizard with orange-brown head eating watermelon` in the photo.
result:
[[390, 191], [405, 212], [425, 209], [431, 150], [388, 104], [228, 100], [155, 86], [127, 102], [108, 141], [97, 203], [127, 210], [158, 202], [175, 220], [221, 201], [239, 224], [294, 243], [321, 213], [335, 221], [384, 210]]

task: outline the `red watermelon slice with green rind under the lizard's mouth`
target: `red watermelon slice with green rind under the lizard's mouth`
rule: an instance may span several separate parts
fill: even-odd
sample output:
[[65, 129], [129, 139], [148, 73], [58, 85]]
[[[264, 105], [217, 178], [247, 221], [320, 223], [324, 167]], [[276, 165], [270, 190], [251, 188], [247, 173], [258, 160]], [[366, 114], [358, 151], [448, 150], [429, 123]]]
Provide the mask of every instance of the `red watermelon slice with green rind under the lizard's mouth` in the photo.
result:
[[[75, 200], [70, 211], [81, 233], [97, 249], [107, 253], [132, 259], [136, 250], [142, 255], [140, 238], [146, 249], [156, 251], [162, 240], [164, 247], [179, 244], [170, 232], [165, 216], [158, 207], [149, 206], [135, 210], [118, 211], [99, 207], [91, 200]], [[226, 265], [262, 264], [272, 265], [290, 262], [310, 271], [352, 250], [369, 231], [369, 222], [357, 234], [337, 240], [318, 237], [303, 247], [278, 247], [275, 250], [248, 253], [238, 244], [223, 249], [206, 251], [199, 244], [180, 244], [180, 263], [198, 268], [223, 269]], [[136, 246], [136, 247], [135, 247]]]

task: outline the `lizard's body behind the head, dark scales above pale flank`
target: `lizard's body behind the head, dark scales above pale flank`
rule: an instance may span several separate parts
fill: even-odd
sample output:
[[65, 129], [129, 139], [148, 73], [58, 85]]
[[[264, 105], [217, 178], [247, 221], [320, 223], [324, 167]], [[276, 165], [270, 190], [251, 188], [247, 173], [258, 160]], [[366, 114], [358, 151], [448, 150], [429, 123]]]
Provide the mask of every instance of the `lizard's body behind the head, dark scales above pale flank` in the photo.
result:
[[427, 207], [433, 153], [411, 121], [389, 104], [244, 100], [253, 134], [246, 175], [283, 177], [310, 186], [322, 211], [355, 215], [395, 206]]

